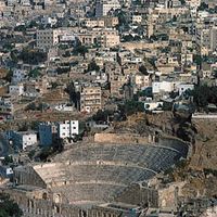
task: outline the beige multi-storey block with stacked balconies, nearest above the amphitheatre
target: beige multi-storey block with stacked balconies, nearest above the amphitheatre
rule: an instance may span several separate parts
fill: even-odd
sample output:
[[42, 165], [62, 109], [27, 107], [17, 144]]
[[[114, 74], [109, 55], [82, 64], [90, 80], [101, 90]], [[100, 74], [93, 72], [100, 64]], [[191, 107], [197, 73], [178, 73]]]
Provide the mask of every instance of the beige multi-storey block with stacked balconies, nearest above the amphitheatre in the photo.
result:
[[97, 112], [102, 108], [102, 90], [99, 86], [84, 87], [80, 92], [80, 111]]

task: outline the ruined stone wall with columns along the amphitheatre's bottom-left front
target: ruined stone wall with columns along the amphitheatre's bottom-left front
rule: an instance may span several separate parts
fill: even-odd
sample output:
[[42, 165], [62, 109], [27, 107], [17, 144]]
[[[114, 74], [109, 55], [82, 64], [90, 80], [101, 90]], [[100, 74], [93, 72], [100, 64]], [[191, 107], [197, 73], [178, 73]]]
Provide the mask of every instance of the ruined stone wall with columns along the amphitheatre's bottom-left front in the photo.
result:
[[81, 209], [73, 204], [55, 203], [43, 189], [35, 191], [0, 189], [0, 192], [8, 193], [18, 204], [24, 217], [119, 217], [122, 214], [119, 210], [100, 206]]

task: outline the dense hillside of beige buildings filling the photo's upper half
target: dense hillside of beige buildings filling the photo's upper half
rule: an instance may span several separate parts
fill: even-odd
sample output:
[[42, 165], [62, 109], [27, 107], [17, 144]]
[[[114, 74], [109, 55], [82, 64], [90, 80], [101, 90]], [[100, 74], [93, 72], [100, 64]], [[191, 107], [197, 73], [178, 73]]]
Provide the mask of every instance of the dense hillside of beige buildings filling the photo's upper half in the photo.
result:
[[[56, 76], [76, 81], [80, 92], [76, 107], [81, 112], [104, 108], [110, 97], [130, 100], [139, 94], [146, 104], [148, 89], [153, 102], [166, 100], [170, 92], [183, 100], [182, 93], [199, 80], [215, 82], [213, 1], [1, 1], [1, 67], [11, 68], [10, 84], [1, 87], [8, 87], [13, 107], [18, 103], [14, 95], [42, 95]], [[16, 16], [20, 23], [13, 22]], [[15, 37], [12, 48], [7, 47], [7, 35]], [[29, 63], [21, 55], [26, 50], [46, 58]], [[86, 95], [87, 87], [99, 95]]]

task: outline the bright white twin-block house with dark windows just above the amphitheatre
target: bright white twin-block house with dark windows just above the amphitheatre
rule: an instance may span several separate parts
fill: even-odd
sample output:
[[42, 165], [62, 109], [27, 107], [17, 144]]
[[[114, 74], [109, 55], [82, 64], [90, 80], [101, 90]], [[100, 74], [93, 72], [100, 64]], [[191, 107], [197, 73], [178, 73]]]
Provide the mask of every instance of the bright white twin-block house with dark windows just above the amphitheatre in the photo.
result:
[[78, 120], [65, 120], [63, 123], [58, 123], [58, 138], [73, 138], [75, 135], [79, 133], [79, 123]]

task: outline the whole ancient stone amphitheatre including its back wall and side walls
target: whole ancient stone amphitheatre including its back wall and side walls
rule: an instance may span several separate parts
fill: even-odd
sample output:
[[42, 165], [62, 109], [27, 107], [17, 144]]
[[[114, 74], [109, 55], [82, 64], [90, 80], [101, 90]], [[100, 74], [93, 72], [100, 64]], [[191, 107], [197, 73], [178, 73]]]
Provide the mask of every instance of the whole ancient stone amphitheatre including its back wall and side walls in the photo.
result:
[[[189, 143], [177, 138], [127, 133], [95, 133], [91, 142], [71, 145], [50, 163], [15, 168], [17, 196], [21, 189], [29, 186], [37, 189], [22, 202], [23, 206], [30, 206], [31, 214], [43, 216], [40, 200], [55, 204], [55, 216], [63, 215], [64, 205], [73, 208], [72, 216], [79, 216], [79, 210], [87, 212], [84, 216], [94, 216], [94, 207], [103, 204], [139, 202], [140, 206], [146, 203], [157, 206], [157, 193], [148, 189], [148, 181], [187, 158], [189, 153]], [[71, 216], [69, 213], [64, 216]]]

